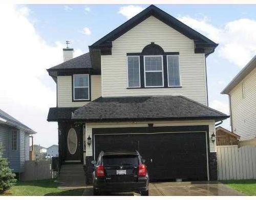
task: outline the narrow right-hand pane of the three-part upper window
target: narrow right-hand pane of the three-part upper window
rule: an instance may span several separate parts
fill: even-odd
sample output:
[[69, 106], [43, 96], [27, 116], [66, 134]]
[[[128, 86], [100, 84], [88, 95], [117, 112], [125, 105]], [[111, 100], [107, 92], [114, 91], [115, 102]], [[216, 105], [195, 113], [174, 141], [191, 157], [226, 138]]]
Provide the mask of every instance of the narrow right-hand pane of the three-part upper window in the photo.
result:
[[180, 86], [179, 55], [167, 55], [168, 86]]

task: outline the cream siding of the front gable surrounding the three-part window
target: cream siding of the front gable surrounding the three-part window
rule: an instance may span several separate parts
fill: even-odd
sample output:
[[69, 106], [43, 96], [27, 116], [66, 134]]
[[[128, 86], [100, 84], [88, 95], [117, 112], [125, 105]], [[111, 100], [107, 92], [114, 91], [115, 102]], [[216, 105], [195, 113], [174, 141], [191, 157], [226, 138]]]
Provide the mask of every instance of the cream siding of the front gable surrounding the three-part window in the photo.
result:
[[[126, 53], [140, 53], [151, 42], [165, 52], [180, 53], [181, 88], [126, 89]], [[205, 55], [195, 54], [193, 40], [151, 16], [114, 40], [112, 45], [112, 55], [101, 56], [102, 97], [183, 95], [207, 105]]]

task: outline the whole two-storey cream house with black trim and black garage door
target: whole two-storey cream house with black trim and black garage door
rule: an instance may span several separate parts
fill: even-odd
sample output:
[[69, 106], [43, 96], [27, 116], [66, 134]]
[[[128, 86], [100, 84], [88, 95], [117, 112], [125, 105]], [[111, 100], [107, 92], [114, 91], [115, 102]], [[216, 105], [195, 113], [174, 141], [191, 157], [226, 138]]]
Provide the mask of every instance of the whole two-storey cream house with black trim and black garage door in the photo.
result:
[[[215, 123], [206, 57], [217, 43], [154, 5], [48, 69], [57, 84], [61, 164], [84, 164], [87, 181], [101, 150], [140, 151], [151, 180], [217, 180]], [[214, 141], [214, 142], [212, 142]]]

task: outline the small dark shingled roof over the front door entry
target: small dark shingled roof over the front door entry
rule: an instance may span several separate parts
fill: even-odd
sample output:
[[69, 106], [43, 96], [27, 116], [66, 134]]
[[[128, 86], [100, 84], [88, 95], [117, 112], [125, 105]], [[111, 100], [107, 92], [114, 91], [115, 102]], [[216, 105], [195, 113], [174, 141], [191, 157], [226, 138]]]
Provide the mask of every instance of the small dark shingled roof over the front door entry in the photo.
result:
[[78, 107], [50, 107], [47, 121], [71, 120], [72, 112]]

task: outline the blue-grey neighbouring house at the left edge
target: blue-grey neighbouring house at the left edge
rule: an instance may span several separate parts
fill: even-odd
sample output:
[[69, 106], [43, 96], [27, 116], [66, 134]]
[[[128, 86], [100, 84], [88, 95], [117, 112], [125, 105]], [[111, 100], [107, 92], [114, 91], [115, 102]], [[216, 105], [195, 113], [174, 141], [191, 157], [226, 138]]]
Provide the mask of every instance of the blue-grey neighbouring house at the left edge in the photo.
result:
[[0, 143], [4, 146], [4, 157], [15, 173], [25, 171], [30, 134], [36, 132], [0, 109]]

